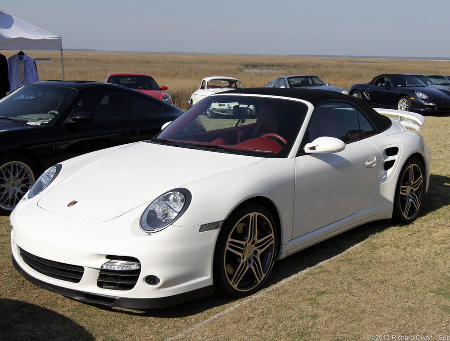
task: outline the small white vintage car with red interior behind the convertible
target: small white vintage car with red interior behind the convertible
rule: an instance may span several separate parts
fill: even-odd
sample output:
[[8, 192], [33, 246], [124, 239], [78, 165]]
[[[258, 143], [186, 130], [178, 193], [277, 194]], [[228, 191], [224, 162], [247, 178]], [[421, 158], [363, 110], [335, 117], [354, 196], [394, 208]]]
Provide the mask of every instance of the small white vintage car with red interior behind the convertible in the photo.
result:
[[205, 77], [198, 84], [198, 88], [190, 95], [189, 104], [192, 106], [203, 98], [217, 92], [242, 88], [242, 83], [237, 78], [223, 76]]

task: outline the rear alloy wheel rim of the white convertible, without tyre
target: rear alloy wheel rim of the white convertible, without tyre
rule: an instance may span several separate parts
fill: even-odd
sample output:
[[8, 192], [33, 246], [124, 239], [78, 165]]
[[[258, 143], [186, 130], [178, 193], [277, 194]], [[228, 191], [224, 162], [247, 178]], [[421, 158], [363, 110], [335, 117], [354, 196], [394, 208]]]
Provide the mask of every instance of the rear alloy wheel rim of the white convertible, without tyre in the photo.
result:
[[417, 164], [410, 164], [403, 173], [399, 195], [401, 214], [405, 219], [414, 218], [423, 198], [423, 174]]

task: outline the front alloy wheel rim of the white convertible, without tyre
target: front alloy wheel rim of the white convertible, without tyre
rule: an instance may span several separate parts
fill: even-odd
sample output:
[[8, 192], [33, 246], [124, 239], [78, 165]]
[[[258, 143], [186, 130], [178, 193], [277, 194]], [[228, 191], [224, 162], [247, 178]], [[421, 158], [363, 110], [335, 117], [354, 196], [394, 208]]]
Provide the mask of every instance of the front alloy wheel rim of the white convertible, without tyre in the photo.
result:
[[228, 284], [237, 291], [256, 288], [268, 275], [275, 258], [275, 233], [262, 213], [243, 216], [225, 244], [223, 267]]

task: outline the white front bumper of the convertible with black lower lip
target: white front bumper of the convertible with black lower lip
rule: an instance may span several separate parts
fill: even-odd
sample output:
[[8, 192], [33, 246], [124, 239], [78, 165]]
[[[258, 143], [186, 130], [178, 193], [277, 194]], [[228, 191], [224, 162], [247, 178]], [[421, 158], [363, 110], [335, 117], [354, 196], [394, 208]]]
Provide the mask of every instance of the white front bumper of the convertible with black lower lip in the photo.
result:
[[[199, 232], [199, 226], [172, 225], [147, 235], [138, 219], [92, 223], [52, 214], [33, 202], [18, 205], [10, 221], [14, 267], [43, 289], [86, 303], [131, 309], [163, 308], [212, 293], [212, 257], [219, 230]], [[50, 264], [81, 268], [82, 276], [78, 283], [48, 276], [47, 270], [25, 261], [23, 251]], [[131, 289], [98, 285], [107, 255], [139, 261], [140, 273]], [[147, 284], [150, 275], [160, 282]]]

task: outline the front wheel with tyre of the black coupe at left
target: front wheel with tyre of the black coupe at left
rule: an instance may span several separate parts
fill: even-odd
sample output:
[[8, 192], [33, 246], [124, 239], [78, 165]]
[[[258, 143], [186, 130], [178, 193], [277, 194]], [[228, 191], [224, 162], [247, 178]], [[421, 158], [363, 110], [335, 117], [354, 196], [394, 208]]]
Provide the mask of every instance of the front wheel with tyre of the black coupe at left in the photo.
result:
[[9, 214], [32, 186], [36, 167], [27, 157], [8, 154], [0, 157], [0, 214]]

